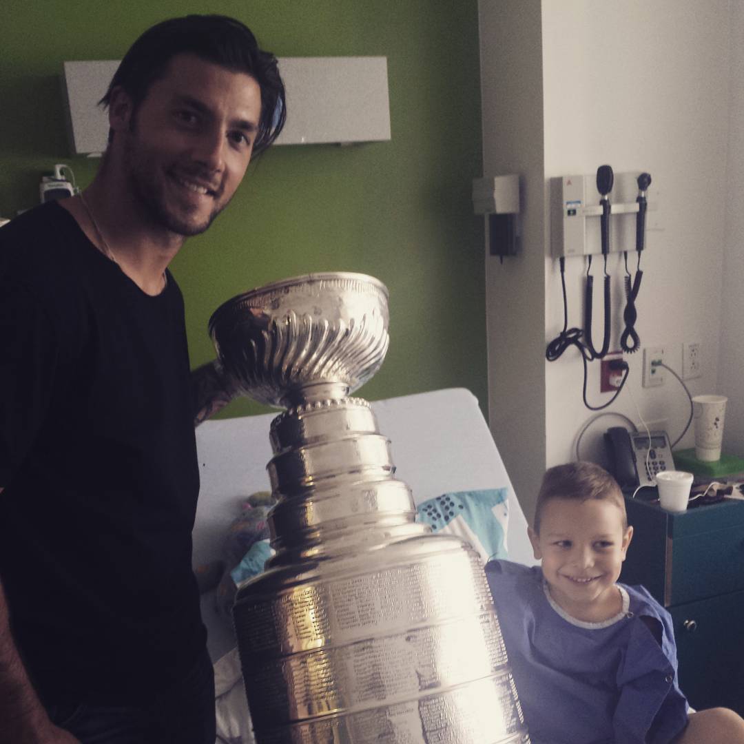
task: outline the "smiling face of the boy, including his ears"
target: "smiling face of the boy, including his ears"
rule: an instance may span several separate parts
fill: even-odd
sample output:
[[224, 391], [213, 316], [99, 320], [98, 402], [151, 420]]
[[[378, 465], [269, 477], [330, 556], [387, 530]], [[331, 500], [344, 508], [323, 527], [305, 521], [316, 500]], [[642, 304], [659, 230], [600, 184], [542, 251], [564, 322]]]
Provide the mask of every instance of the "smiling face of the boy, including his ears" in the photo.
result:
[[568, 615], [586, 622], [620, 611], [615, 582], [632, 537], [612, 501], [554, 498], [542, 510], [540, 532], [529, 530], [551, 597]]

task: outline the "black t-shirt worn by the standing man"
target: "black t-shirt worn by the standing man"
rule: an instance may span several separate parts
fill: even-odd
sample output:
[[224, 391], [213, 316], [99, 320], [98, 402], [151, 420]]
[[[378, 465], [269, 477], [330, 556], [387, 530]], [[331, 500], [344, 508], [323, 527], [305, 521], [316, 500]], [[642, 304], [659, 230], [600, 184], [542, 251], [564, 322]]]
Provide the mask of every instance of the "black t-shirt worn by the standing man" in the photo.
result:
[[46, 702], [122, 702], [205, 645], [181, 292], [152, 297], [52, 202], [0, 229], [0, 577]]

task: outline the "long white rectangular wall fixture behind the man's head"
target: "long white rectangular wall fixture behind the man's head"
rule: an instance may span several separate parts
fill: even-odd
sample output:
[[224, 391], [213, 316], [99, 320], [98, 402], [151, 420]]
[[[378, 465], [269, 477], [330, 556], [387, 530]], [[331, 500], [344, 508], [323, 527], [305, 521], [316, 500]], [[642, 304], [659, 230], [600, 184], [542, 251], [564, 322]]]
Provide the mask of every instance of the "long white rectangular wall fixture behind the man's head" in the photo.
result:
[[[109, 119], [98, 106], [119, 60], [65, 62], [62, 83], [76, 155], [106, 150]], [[275, 144], [391, 138], [386, 57], [280, 57], [287, 121]]]

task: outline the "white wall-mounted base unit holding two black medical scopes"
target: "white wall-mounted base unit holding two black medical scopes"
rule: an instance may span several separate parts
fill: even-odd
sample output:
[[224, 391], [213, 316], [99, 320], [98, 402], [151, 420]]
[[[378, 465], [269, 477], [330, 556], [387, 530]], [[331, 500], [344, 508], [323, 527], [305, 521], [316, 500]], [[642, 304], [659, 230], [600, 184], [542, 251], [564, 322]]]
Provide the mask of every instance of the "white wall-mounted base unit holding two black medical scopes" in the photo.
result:
[[[615, 173], [609, 212], [609, 251], [635, 251], [639, 172]], [[555, 257], [601, 254], [603, 207], [597, 176], [551, 179], [551, 244]], [[661, 231], [659, 190], [647, 192], [646, 231]]]

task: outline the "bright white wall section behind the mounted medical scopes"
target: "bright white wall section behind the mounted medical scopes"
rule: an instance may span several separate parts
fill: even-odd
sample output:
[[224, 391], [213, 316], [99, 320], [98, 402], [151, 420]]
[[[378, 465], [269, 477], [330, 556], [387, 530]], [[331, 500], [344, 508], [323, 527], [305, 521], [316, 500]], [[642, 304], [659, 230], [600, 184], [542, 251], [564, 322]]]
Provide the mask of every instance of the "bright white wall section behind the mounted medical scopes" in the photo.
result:
[[[703, 376], [688, 382], [692, 394], [716, 390], [721, 324], [722, 259], [726, 204], [726, 142], [730, 68], [729, 0], [570, 0], [542, 3], [545, 176], [647, 170], [661, 190], [662, 233], [649, 234], [641, 259], [644, 278], [636, 302], [642, 345], [663, 345], [667, 365], [682, 373], [682, 342], [702, 341]], [[599, 197], [597, 196], [597, 202]], [[562, 327], [557, 260], [546, 260], [545, 332]], [[612, 350], [620, 348], [623, 268], [611, 256], [615, 318]], [[635, 253], [629, 256], [635, 269]], [[582, 326], [586, 262], [566, 262], [569, 323]], [[601, 261], [595, 259], [595, 347], [602, 336]], [[598, 307], [597, 307], [598, 306]], [[599, 317], [597, 317], [599, 315]], [[642, 388], [642, 352], [626, 355], [630, 376], [617, 402], [639, 422], [667, 420], [674, 440], [690, 406], [672, 376], [662, 388]], [[594, 414], [581, 402], [583, 368], [571, 350], [547, 364], [548, 466], [572, 460], [575, 435]], [[599, 393], [599, 364], [589, 369], [589, 402]], [[598, 420], [580, 456], [600, 459], [601, 432], [618, 423]], [[692, 446], [692, 429], [680, 446]]]

